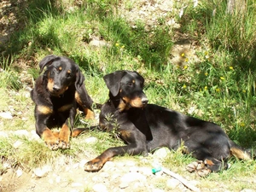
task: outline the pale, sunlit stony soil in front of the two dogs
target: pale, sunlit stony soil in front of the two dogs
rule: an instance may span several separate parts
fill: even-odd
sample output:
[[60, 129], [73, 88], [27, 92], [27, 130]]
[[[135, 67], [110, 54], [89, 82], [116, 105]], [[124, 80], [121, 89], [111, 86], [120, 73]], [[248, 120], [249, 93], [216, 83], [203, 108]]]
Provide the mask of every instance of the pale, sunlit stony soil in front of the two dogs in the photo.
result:
[[[9, 131], [0, 132], [0, 137], [8, 137], [10, 134], [28, 137], [42, 142], [35, 131]], [[96, 143], [96, 137], [89, 137], [86, 143]], [[14, 147], [20, 148], [23, 143], [15, 141]], [[0, 176], [0, 191], [5, 192], [32, 192], [32, 191], [154, 191], [162, 192], [164, 189], [176, 191], [189, 191], [179, 180], [160, 171], [155, 174], [153, 167], [160, 167], [161, 160], [170, 153], [166, 148], [161, 148], [148, 157], [140, 157], [137, 160], [124, 158], [123, 160], [108, 161], [100, 172], [84, 172], [84, 164], [89, 159], [67, 159], [61, 156], [50, 163], [33, 170], [24, 170], [21, 167], [12, 168], [7, 160], [3, 160], [6, 172]], [[139, 163], [139, 165], [138, 165]], [[152, 166], [141, 166], [152, 165]], [[185, 178], [183, 178], [185, 179]], [[165, 186], [157, 183], [165, 181]], [[187, 181], [189, 186], [196, 186], [195, 180]], [[163, 189], [161, 189], [163, 188]], [[196, 187], [195, 187], [196, 188]]]

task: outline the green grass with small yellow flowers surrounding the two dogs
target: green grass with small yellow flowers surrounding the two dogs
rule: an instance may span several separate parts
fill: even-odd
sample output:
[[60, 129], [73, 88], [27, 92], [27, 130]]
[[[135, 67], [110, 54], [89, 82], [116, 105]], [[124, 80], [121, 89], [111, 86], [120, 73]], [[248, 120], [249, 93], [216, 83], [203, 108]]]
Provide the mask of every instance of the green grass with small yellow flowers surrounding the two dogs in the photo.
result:
[[[146, 31], [142, 20], [135, 20], [137, 27], [134, 28], [120, 17], [122, 10], [113, 0], [81, 1], [79, 5], [75, 1], [60, 1], [58, 4], [41, 0], [29, 2], [24, 13], [26, 25], [12, 34], [6, 46], [0, 48], [3, 52], [0, 57], [0, 112], [11, 111], [14, 114], [13, 119], [1, 119], [0, 131], [35, 129], [32, 101], [27, 95], [26, 84], [21, 83], [19, 61], [32, 60], [28, 73], [36, 79], [39, 75], [38, 61], [45, 55], [55, 54], [66, 55], [79, 64], [86, 88], [96, 102], [103, 103], [108, 99], [103, 75], [119, 69], [136, 70], [145, 78], [145, 93], [150, 103], [213, 121], [221, 125], [236, 143], [245, 148], [255, 148], [253, 24], [256, 18], [253, 1], [247, 1], [247, 12], [243, 17], [226, 16], [226, 7], [222, 3], [204, 0], [195, 8], [191, 1], [184, 3], [188, 3], [184, 15], [175, 17], [181, 24], [178, 32], [186, 33], [198, 44], [198, 49], [194, 56], [180, 53], [183, 62], [177, 64], [170, 61], [175, 43], [173, 36], [177, 31], [165, 25], [162, 15], [158, 18], [160, 25]], [[125, 6], [132, 9], [135, 4], [127, 3]], [[175, 6], [178, 10], [181, 8], [179, 3]], [[216, 15], [212, 16], [216, 7]], [[242, 30], [237, 31], [237, 27]], [[104, 39], [109, 46], [91, 47], [88, 44], [92, 38]], [[77, 120], [76, 126], [84, 125]], [[84, 138], [90, 136], [97, 137], [98, 144], [84, 143]], [[17, 140], [23, 143], [23, 147], [14, 148]], [[38, 141], [10, 136], [9, 139], [1, 139], [0, 156], [8, 158], [14, 165], [32, 168], [61, 155], [77, 157], [79, 152], [94, 156], [122, 142], [113, 139], [110, 133], [88, 131], [84, 136], [73, 139], [72, 144], [70, 150], [51, 152]], [[37, 158], [32, 158], [35, 156]], [[164, 165], [183, 174], [181, 167], [192, 160], [179, 152], [171, 152]], [[228, 172], [196, 179], [200, 179], [204, 187], [230, 183], [230, 190], [233, 187], [237, 190], [249, 188], [242, 180], [255, 175], [255, 162], [230, 162], [232, 166]], [[1, 172], [3, 169], [0, 164]], [[231, 181], [231, 177], [241, 182]]]

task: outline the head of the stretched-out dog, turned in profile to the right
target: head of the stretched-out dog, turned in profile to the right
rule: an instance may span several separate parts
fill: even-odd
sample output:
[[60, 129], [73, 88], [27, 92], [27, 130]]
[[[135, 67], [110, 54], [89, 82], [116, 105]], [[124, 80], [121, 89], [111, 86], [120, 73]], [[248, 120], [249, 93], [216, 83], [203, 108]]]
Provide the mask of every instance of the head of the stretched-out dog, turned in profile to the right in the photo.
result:
[[143, 92], [144, 79], [137, 72], [116, 71], [104, 76], [110, 99], [119, 100], [119, 111], [143, 108], [148, 98]]

